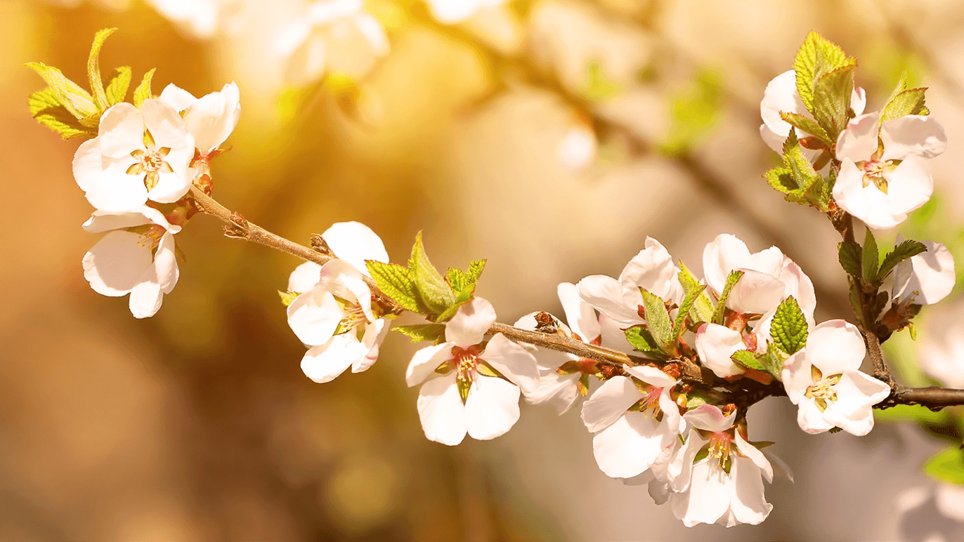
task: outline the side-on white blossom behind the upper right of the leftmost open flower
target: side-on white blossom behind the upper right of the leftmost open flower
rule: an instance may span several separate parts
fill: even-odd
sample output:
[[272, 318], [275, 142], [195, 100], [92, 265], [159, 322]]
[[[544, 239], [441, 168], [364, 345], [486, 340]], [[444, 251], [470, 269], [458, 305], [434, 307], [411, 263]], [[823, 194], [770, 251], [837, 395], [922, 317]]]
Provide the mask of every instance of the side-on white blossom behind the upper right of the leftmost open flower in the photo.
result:
[[241, 97], [233, 82], [201, 98], [171, 84], [161, 92], [160, 99], [184, 118], [201, 156], [210, 154], [226, 142], [241, 118]]

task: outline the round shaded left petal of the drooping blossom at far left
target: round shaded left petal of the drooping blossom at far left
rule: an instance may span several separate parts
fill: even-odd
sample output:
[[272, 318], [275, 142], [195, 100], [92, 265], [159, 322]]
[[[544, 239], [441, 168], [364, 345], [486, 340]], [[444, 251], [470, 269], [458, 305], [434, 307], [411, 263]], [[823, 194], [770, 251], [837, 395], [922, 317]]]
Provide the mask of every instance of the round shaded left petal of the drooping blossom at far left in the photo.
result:
[[153, 258], [141, 245], [141, 236], [129, 231], [112, 231], [84, 254], [84, 278], [94, 292], [120, 297], [130, 293]]

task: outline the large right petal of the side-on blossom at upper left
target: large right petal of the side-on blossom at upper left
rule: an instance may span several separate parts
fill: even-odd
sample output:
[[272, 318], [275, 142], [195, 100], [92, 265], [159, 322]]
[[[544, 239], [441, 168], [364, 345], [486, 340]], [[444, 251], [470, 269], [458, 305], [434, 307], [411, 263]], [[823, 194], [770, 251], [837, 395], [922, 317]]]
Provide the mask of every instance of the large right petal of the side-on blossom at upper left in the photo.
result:
[[241, 117], [240, 99], [238, 86], [228, 83], [219, 92], [201, 96], [188, 108], [184, 122], [201, 154], [211, 152], [228, 140]]

